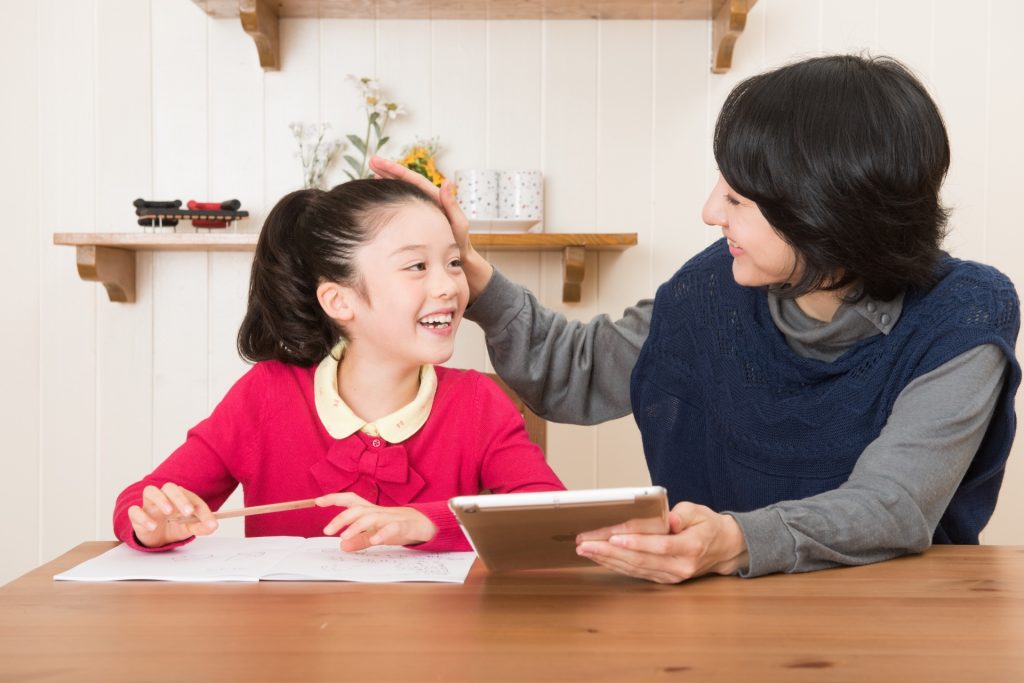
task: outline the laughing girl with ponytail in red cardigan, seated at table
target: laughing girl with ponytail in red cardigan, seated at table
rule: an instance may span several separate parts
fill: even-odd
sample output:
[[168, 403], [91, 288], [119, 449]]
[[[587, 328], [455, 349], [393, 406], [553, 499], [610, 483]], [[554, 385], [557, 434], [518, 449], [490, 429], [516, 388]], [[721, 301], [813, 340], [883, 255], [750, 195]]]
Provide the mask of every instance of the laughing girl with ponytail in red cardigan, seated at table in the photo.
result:
[[[247, 506], [317, 506], [247, 517], [247, 536], [340, 530], [343, 550], [468, 550], [449, 498], [563, 488], [494, 382], [435, 367], [468, 294], [452, 228], [414, 185], [285, 197], [260, 233], [239, 331], [256, 365], [121, 494], [118, 538], [167, 550], [212, 533], [211, 510], [241, 483]], [[199, 521], [168, 521], [181, 515]]]

